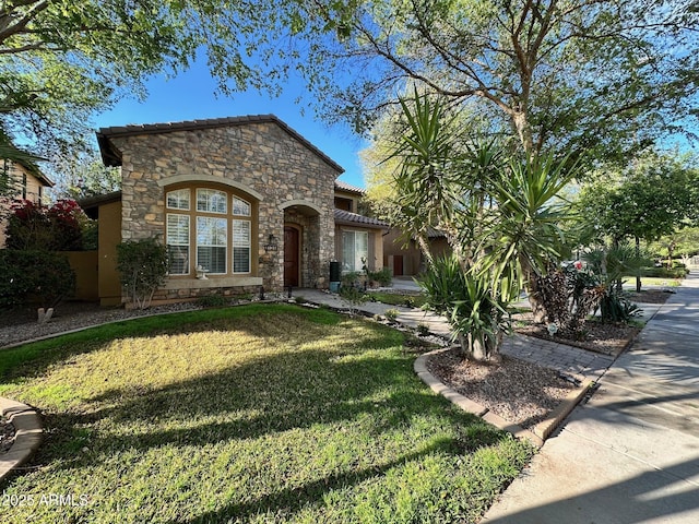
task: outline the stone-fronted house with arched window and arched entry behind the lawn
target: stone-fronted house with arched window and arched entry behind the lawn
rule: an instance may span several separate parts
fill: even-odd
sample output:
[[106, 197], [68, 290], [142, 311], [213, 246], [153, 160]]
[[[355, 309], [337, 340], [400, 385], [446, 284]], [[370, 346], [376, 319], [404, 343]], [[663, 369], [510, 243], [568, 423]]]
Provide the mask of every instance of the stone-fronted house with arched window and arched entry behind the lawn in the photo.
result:
[[324, 288], [333, 260], [382, 261], [382, 223], [356, 209], [336, 216], [343, 168], [273, 115], [106, 128], [97, 142], [122, 176], [120, 192], [81, 202], [99, 218], [103, 305], [122, 301], [123, 240], [167, 246], [170, 272], [155, 301]]

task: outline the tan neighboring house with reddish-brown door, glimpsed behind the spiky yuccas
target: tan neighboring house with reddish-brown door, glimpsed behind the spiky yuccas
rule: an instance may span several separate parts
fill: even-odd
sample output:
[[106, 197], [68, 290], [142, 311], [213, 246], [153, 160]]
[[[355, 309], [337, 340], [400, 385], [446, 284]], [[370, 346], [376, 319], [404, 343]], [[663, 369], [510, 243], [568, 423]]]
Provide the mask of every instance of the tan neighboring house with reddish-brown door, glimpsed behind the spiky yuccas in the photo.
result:
[[[425, 271], [425, 255], [417, 241], [411, 238], [407, 242], [401, 238], [402, 231], [391, 228], [383, 237], [383, 265], [389, 267], [393, 276], [415, 276]], [[451, 251], [443, 233], [430, 227], [427, 230], [429, 252], [438, 257]]]

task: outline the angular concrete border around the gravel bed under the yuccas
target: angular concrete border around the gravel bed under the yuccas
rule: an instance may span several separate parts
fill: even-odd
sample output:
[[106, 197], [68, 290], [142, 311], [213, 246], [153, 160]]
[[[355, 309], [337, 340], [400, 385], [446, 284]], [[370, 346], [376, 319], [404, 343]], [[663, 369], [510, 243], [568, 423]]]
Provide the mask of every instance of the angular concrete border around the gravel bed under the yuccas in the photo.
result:
[[427, 370], [427, 359], [431, 355], [436, 355], [446, 350], [448, 350], [448, 348], [436, 349], [434, 352], [420, 355], [419, 357], [417, 357], [417, 359], [415, 359], [413, 369], [423, 380], [423, 382], [429, 385], [429, 388], [435, 393], [442, 395], [445, 398], [455, 404], [464, 412], [481, 417], [486, 422], [489, 422], [503, 431], [512, 433], [518, 439], [526, 439], [536, 448], [541, 448], [542, 445], [544, 445], [544, 441], [554, 432], [554, 430], [570, 414], [570, 412], [572, 412], [572, 409], [588, 393], [588, 390], [592, 384], [591, 382], [590, 384], [585, 384], [584, 386], [570, 392], [568, 396], [558, 405], [558, 407], [548, 414], [545, 420], [537, 424], [533, 431], [530, 431], [522, 428], [521, 426], [518, 426], [517, 424], [507, 421], [506, 419], [490, 412], [487, 407], [482, 406], [477, 402], [466, 398], [448, 385], [442, 384], [433, 373], [430, 373]]

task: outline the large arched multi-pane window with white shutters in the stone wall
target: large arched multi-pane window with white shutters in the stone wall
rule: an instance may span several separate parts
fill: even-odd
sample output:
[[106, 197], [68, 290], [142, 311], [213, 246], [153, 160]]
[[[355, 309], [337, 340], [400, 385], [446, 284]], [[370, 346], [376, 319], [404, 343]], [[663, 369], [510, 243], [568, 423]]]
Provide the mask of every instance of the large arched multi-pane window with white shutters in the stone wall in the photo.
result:
[[252, 272], [250, 202], [208, 188], [176, 189], [165, 199], [171, 275], [196, 274], [199, 267], [208, 275]]

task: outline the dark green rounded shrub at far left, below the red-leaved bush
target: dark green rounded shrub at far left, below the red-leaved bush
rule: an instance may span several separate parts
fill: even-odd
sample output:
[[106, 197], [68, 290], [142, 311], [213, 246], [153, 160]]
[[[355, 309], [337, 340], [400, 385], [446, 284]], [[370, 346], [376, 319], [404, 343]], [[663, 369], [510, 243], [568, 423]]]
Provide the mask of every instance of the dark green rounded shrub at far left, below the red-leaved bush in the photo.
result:
[[68, 259], [52, 251], [0, 250], [0, 306], [36, 300], [56, 307], [75, 291], [75, 273]]

